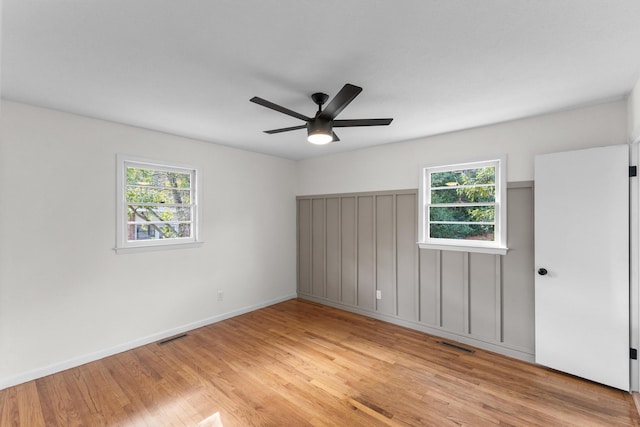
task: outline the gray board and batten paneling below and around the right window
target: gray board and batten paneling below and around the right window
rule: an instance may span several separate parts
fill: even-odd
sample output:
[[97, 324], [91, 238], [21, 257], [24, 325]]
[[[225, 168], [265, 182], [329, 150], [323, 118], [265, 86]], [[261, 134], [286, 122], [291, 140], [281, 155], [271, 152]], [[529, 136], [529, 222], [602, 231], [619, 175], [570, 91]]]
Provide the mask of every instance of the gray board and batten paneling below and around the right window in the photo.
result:
[[507, 203], [492, 255], [419, 249], [415, 189], [298, 196], [298, 297], [533, 361], [533, 182]]

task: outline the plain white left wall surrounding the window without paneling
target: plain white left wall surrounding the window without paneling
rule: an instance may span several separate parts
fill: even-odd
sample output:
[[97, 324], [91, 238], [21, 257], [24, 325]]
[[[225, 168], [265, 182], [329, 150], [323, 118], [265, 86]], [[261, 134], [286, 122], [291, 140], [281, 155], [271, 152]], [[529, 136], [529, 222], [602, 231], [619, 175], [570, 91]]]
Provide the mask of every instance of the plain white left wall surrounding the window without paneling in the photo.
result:
[[[117, 153], [201, 167], [202, 247], [116, 255]], [[3, 102], [0, 388], [293, 297], [295, 173], [289, 160]]]

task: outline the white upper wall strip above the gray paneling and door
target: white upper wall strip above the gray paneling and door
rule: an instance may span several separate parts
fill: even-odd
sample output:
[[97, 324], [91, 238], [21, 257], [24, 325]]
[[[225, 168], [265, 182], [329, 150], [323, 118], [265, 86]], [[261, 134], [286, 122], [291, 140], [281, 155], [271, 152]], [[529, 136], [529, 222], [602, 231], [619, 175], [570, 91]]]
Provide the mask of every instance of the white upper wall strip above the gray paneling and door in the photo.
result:
[[536, 154], [625, 144], [626, 110], [626, 101], [620, 100], [303, 160], [298, 163], [297, 194], [417, 188], [420, 165], [482, 160], [503, 153], [508, 156], [508, 180], [529, 181]]

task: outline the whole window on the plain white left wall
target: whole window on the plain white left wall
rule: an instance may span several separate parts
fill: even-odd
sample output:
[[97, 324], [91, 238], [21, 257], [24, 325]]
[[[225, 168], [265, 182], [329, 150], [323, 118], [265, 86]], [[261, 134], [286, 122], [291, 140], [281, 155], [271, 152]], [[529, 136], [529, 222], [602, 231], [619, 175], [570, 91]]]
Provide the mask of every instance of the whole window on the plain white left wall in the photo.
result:
[[196, 168], [119, 156], [116, 251], [198, 244], [198, 189]]

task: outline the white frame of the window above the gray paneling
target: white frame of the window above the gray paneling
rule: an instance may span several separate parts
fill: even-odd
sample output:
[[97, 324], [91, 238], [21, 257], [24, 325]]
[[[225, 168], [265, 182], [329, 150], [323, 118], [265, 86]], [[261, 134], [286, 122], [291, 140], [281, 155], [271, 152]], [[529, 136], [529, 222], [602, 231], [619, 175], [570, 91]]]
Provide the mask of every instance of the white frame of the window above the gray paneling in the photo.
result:
[[[442, 239], [429, 236], [429, 206], [431, 205], [431, 174], [477, 169], [488, 166], [496, 168], [494, 240]], [[507, 160], [500, 156], [489, 160], [470, 161], [450, 165], [421, 166], [418, 202], [418, 246], [422, 249], [438, 249], [463, 252], [480, 252], [505, 255], [507, 248]]]

